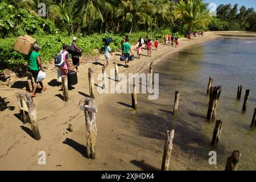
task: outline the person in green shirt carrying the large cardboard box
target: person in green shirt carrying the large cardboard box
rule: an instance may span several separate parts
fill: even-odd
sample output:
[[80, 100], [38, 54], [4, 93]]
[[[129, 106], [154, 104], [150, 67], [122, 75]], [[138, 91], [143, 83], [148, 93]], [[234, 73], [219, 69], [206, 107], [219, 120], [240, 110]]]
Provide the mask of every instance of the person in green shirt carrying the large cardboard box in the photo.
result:
[[36, 89], [38, 88], [38, 83], [40, 84], [40, 86], [42, 88], [42, 92], [46, 91], [46, 88], [43, 86], [42, 81], [36, 82], [36, 79], [38, 78], [39, 71], [40, 70], [42, 71], [42, 63], [41, 63], [40, 54], [39, 54], [40, 49], [41, 49], [41, 47], [38, 44], [35, 44], [33, 51], [28, 55], [30, 72], [32, 73], [32, 76], [35, 79], [34, 89], [33, 89], [33, 92], [31, 93], [32, 97], [35, 97], [35, 92], [36, 92]]

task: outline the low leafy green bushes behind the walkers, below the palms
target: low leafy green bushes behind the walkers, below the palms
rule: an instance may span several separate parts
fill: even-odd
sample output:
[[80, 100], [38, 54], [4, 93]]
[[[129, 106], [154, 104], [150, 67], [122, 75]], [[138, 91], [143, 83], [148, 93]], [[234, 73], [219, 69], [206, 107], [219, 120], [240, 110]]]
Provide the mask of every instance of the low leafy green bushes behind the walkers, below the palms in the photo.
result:
[[[43, 63], [49, 63], [53, 57], [61, 50], [63, 44], [71, 44], [72, 36], [63, 35], [44, 35], [33, 36], [36, 42], [42, 47], [40, 57]], [[113, 51], [119, 49], [122, 37], [114, 34], [93, 34], [78, 39], [77, 46], [82, 49], [82, 54], [96, 55], [95, 49], [104, 46], [103, 38], [112, 38], [113, 43], [110, 47]], [[17, 38], [6, 38], [0, 40], [0, 69], [9, 68], [15, 70], [14, 67], [27, 64], [28, 57], [22, 53], [14, 51], [14, 44]]]

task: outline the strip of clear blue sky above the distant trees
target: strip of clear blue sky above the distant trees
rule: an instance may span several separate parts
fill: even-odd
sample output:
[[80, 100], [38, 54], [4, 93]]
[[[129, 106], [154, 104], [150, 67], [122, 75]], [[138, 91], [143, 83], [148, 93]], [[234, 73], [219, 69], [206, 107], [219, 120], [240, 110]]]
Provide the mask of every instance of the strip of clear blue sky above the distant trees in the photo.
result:
[[231, 4], [232, 6], [234, 4], [238, 4], [239, 7], [242, 5], [245, 5], [246, 8], [253, 7], [254, 10], [256, 10], [256, 1], [255, 0], [204, 0], [206, 3], [215, 3], [217, 6], [221, 4]]

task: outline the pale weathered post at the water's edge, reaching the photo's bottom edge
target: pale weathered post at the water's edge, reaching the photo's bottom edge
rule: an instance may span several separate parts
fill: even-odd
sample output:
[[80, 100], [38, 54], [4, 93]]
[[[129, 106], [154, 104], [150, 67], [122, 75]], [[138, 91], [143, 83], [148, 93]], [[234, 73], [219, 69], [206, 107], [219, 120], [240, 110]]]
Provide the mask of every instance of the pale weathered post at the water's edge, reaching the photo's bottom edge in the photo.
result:
[[164, 154], [162, 160], [162, 171], [168, 171], [172, 154], [172, 141], [174, 140], [174, 130], [166, 131], [166, 143], [164, 143]]

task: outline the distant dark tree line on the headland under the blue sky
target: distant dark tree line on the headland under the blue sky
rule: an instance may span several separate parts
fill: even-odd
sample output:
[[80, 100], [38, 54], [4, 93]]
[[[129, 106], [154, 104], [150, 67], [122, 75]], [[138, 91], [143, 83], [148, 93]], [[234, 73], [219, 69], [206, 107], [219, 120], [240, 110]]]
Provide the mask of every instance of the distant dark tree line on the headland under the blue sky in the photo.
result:
[[217, 16], [209, 24], [209, 28], [220, 31], [256, 31], [256, 13], [253, 8], [246, 9], [245, 6], [238, 10], [237, 4], [233, 7], [230, 4], [220, 5], [217, 7]]

